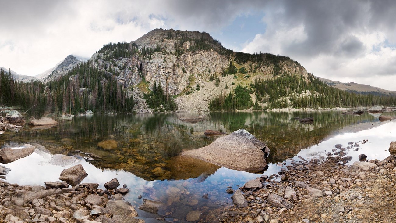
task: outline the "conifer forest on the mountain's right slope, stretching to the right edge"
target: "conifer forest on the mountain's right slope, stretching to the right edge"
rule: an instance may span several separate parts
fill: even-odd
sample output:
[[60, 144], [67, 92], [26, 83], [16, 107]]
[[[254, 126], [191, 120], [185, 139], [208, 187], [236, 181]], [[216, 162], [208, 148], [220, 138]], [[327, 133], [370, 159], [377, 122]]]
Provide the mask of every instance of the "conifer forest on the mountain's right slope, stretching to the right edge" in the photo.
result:
[[[350, 93], [329, 87], [313, 75], [308, 80], [296, 75], [282, 75], [272, 80], [256, 79], [256, 97], [268, 108], [335, 108], [396, 104], [392, 96]], [[308, 93], [309, 92], [309, 93]], [[290, 102], [290, 103], [289, 103]]]

